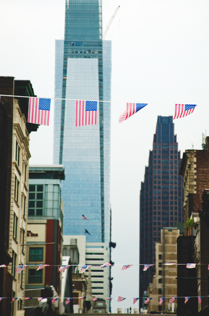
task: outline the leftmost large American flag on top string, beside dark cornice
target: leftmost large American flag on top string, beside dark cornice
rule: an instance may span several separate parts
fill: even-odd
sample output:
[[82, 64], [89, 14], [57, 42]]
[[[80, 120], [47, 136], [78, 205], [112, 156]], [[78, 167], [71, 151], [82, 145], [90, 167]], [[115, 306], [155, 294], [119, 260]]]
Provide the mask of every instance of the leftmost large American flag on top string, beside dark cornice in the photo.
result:
[[28, 123], [49, 126], [51, 99], [29, 98]]

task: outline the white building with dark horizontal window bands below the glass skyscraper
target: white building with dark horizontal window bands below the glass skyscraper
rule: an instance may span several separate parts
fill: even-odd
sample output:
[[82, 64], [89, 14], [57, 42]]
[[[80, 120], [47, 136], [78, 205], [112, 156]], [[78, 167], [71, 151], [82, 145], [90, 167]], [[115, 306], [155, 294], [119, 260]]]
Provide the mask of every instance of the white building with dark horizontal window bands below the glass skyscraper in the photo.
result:
[[[84, 235], [64, 235], [63, 253], [65, 255], [69, 254], [68, 249], [72, 240], [75, 239], [77, 239], [79, 251], [79, 271], [82, 265], [91, 265], [92, 297], [106, 299], [106, 297], [109, 297], [109, 267], [104, 269], [99, 267], [109, 260], [106, 243], [86, 242], [86, 236]], [[89, 270], [87, 269], [85, 271], [86, 278], [88, 278], [88, 272]]]

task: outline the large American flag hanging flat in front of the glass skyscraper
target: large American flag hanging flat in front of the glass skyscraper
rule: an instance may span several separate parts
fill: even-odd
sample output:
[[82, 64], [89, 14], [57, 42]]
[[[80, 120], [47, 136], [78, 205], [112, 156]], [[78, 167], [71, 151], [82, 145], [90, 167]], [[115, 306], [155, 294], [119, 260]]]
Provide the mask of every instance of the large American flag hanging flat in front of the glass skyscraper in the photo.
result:
[[76, 100], [75, 126], [96, 125], [97, 101]]

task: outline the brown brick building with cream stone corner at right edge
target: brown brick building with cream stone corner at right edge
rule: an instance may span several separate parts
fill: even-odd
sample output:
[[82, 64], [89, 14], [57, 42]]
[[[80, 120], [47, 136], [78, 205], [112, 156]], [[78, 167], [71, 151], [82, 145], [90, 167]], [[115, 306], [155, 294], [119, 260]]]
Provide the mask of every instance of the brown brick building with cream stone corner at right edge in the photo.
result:
[[[184, 188], [185, 236], [191, 240], [188, 245], [192, 247], [197, 264], [196, 277], [207, 278], [209, 229], [203, 219], [199, 218], [199, 214], [203, 202], [201, 197], [204, 190], [209, 189], [209, 137], [206, 137], [206, 142], [202, 147], [203, 150], [190, 149], [183, 153], [180, 174], [183, 176]], [[188, 249], [188, 251], [192, 250]], [[208, 295], [207, 280], [198, 280], [195, 286], [197, 286], [198, 296], [203, 296], [203, 298], [200, 305], [197, 300], [188, 301], [188, 306], [191, 305], [190, 311], [195, 308], [192, 301], [199, 311], [208, 306], [208, 299], [204, 297]]]

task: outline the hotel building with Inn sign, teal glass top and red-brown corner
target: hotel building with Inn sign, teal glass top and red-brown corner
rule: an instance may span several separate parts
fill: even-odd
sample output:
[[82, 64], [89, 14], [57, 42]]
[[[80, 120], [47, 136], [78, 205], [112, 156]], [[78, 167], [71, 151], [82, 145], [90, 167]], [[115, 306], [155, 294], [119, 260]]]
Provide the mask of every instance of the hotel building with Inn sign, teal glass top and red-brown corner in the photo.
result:
[[[64, 204], [61, 198], [61, 180], [64, 179], [63, 165], [29, 166], [26, 237], [28, 267], [25, 288], [32, 297], [32, 289], [41, 290], [47, 284], [53, 287], [53, 296], [58, 296], [61, 292], [61, 273], [58, 266], [62, 263]], [[34, 266], [39, 264], [49, 266], [36, 270]], [[30, 302], [28, 304], [26, 308], [29, 308]]]

